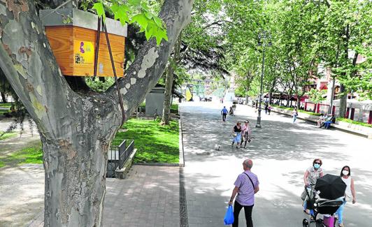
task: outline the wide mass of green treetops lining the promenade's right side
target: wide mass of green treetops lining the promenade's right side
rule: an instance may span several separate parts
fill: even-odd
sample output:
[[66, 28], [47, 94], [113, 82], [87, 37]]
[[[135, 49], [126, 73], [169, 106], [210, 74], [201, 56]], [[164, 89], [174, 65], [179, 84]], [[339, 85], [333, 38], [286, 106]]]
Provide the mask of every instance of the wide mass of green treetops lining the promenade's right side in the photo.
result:
[[[317, 66], [324, 64], [347, 91], [372, 98], [372, 1], [227, 0], [222, 5], [231, 20], [223, 27], [224, 64], [237, 74], [236, 94], [259, 94], [255, 80], [262, 70], [263, 47], [257, 41], [266, 30], [266, 41], [273, 45], [265, 47], [264, 93], [302, 96], [310, 81], [323, 76], [317, 75]], [[355, 64], [353, 53], [362, 54], [364, 61]]]

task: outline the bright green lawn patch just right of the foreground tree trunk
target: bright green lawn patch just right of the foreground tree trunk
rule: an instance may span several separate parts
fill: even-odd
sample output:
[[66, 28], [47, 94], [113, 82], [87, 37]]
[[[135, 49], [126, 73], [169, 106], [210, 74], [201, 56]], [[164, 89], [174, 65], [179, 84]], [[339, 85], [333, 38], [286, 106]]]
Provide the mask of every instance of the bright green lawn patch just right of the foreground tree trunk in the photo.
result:
[[[173, 106], [173, 108], [175, 108]], [[159, 125], [160, 120], [129, 119], [118, 132], [114, 142], [134, 140], [136, 163], [178, 163], [178, 121], [171, 120], [169, 126]]]

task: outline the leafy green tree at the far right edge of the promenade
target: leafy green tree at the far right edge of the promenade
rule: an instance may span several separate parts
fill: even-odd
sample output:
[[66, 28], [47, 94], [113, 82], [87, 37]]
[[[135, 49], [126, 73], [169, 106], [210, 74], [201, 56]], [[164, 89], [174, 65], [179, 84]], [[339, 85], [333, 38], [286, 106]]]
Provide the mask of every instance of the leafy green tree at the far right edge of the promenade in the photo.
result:
[[[371, 98], [371, 1], [327, 1], [324, 27], [320, 29], [322, 60], [341, 82], [339, 116], [346, 112], [347, 94], [356, 91]], [[324, 7], [324, 6], [323, 6]], [[357, 64], [359, 54], [366, 61]]]

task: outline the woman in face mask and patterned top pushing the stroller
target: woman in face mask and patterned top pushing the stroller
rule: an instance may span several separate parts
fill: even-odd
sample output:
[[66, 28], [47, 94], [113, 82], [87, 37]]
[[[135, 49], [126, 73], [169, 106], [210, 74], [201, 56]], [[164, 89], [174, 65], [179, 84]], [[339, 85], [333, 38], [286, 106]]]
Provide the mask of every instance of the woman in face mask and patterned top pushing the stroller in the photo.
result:
[[[306, 186], [312, 186], [314, 189], [317, 179], [323, 176], [323, 169], [320, 168], [320, 166], [322, 166], [322, 160], [315, 159], [313, 161], [313, 166], [310, 166], [306, 170], [305, 175], [303, 176], [303, 182], [305, 183]], [[301, 196], [303, 198], [303, 212], [306, 212], [306, 214], [310, 214], [310, 211], [306, 209], [307, 207], [306, 191], [303, 191], [303, 195], [305, 195]]]

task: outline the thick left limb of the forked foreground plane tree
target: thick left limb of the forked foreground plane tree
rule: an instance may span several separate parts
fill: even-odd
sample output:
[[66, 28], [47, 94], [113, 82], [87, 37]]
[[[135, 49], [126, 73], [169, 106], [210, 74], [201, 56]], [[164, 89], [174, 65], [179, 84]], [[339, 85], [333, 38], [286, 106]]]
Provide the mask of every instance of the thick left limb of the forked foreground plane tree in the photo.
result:
[[0, 67], [36, 124], [44, 126], [39, 128], [41, 133], [55, 136], [66, 128], [58, 119], [71, 116], [78, 96], [59, 70], [34, 1], [10, 7], [0, 1], [0, 12], [14, 15], [5, 15], [0, 24]]

